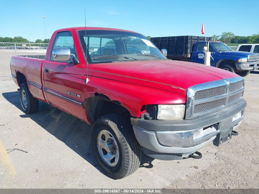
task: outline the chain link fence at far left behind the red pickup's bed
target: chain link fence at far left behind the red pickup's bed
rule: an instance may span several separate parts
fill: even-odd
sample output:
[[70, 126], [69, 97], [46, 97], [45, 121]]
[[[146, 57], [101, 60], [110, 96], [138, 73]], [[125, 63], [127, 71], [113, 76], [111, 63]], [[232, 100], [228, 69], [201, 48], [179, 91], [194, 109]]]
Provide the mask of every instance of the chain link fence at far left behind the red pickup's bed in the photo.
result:
[[10, 61], [13, 55], [46, 55], [46, 43], [5, 43], [0, 42], [0, 78], [11, 79]]

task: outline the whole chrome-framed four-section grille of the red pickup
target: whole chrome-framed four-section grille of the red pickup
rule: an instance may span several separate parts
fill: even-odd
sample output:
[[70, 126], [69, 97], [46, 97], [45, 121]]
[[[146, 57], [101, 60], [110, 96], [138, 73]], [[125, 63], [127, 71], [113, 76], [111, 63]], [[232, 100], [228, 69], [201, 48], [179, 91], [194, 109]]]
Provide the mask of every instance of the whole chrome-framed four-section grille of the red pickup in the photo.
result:
[[211, 114], [242, 99], [244, 79], [223, 78], [191, 86], [187, 90], [185, 119]]

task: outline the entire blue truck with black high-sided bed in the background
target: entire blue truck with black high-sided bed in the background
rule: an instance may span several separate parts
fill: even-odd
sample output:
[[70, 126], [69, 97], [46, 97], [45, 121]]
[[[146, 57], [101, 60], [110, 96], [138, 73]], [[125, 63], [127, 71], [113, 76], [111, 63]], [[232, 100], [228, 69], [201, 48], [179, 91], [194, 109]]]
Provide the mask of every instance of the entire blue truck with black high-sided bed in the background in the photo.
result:
[[[204, 47], [207, 41], [201, 36], [168, 36], [151, 38], [159, 48], [167, 50], [167, 58], [204, 64]], [[259, 68], [259, 55], [252, 52], [233, 51], [226, 44], [210, 41], [211, 66], [231, 71], [242, 77]]]

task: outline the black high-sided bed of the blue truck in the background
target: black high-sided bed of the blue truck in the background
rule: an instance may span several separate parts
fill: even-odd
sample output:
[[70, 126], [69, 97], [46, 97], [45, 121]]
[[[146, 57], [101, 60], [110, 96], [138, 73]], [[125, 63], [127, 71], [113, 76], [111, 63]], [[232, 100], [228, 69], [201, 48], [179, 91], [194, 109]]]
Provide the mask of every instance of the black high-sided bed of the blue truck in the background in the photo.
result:
[[[192, 54], [192, 48], [198, 41], [204, 41], [204, 36], [166, 36], [153, 37], [151, 41], [161, 50], [167, 50], [168, 59], [188, 60]], [[211, 40], [211, 37], [206, 37]]]

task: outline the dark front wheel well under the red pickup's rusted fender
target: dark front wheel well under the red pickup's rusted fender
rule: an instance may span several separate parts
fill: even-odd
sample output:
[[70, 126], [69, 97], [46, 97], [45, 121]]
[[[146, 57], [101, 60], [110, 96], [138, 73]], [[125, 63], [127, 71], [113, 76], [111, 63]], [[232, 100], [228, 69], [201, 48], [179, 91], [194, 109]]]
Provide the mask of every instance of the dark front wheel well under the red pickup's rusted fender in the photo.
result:
[[90, 97], [87, 103], [87, 114], [92, 123], [99, 117], [112, 113], [122, 115], [125, 119], [131, 117], [129, 111], [120, 105], [119, 101], [111, 101], [103, 94], [99, 94], [99, 96], [95, 94], [95, 97]]

